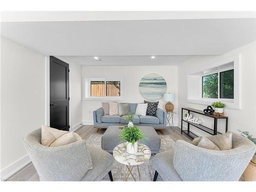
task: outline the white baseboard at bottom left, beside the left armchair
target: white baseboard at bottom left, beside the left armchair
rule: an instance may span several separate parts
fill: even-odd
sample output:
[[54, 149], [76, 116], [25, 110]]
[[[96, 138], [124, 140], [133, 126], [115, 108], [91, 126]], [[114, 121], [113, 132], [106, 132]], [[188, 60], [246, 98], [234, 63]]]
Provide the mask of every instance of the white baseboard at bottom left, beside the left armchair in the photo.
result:
[[8, 179], [10, 176], [15, 174], [18, 170], [20, 170], [30, 162], [31, 160], [28, 155], [25, 155], [24, 157], [18, 159], [17, 161], [13, 162], [12, 164], [1, 170], [1, 179]]

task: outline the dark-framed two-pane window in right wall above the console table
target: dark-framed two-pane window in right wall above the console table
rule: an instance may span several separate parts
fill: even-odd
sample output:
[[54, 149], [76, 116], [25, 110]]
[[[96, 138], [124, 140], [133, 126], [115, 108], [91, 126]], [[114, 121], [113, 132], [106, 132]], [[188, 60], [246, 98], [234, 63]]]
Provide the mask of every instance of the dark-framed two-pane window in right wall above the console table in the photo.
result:
[[202, 98], [233, 99], [234, 70], [202, 76]]

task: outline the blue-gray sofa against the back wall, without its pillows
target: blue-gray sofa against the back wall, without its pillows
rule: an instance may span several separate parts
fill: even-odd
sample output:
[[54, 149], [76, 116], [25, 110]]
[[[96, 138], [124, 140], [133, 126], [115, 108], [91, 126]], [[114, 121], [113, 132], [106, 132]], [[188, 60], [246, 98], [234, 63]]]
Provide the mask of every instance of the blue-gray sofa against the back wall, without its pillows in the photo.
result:
[[[138, 103], [128, 103], [130, 105], [130, 111], [135, 114]], [[166, 112], [157, 109], [157, 116], [137, 116], [134, 115], [134, 125], [152, 126], [154, 128], [165, 128], [166, 125]], [[104, 115], [103, 109], [97, 109], [93, 111], [94, 127], [108, 127], [110, 125], [126, 125], [129, 122], [126, 121], [123, 116], [119, 115]]]

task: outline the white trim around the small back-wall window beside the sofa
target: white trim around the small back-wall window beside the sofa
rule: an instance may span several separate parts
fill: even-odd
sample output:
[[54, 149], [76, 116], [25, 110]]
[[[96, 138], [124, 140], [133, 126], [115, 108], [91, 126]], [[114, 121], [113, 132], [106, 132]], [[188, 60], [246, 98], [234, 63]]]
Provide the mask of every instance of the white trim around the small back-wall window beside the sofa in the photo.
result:
[[[105, 97], [91, 97], [91, 81], [120, 81], [120, 96], [105, 96]], [[118, 78], [84, 78], [83, 85], [82, 85], [82, 93], [83, 93], [83, 100], [95, 101], [95, 100], [108, 100], [108, 101], [116, 101], [116, 100], [123, 100], [124, 95], [124, 81], [123, 77]]]

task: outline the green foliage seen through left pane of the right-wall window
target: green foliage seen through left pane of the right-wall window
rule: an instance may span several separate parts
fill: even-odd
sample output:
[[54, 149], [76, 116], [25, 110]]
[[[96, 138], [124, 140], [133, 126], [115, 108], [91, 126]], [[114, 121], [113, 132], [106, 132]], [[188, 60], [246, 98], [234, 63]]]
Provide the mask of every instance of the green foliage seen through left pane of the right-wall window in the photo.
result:
[[218, 73], [205, 75], [203, 81], [203, 98], [218, 98]]

